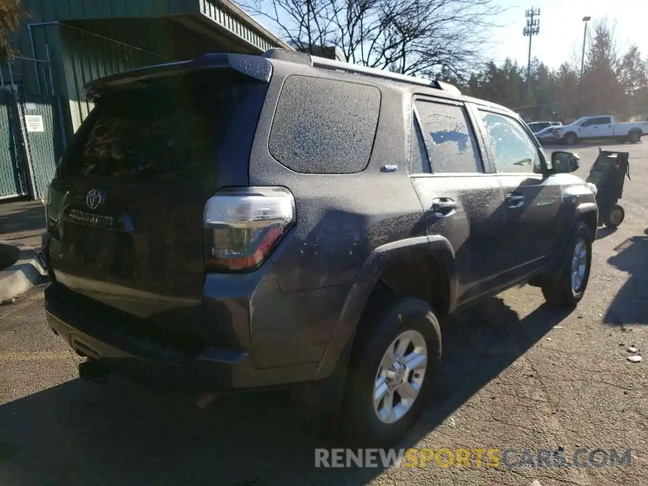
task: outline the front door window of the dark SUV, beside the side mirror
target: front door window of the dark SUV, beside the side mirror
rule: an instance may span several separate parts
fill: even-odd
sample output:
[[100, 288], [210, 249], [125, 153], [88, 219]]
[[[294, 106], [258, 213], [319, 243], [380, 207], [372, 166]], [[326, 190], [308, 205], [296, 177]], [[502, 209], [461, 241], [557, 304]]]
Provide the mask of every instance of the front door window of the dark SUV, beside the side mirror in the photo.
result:
[[480, 115], [496, 172], [542, 172], [540, 152], [519, 122], [488, 111]]

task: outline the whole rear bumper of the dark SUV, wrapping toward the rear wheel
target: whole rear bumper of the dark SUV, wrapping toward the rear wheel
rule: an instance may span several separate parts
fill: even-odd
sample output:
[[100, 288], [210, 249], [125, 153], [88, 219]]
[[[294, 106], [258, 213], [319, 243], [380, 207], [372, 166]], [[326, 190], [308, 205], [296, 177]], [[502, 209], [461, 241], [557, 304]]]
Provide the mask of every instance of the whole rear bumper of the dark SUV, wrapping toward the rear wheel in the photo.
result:
[[84, 281], [52, 260], [57, 245], [43, 235], [48, 325], [117, 375], [178, 391], [226, 391], [325, 378], [338, 359], [334, 351], [321, 366], [350, 284], [284, 294], [268, 262], [257, 272], [209, 274], [200, 296], [176, 305], [166, 294]]

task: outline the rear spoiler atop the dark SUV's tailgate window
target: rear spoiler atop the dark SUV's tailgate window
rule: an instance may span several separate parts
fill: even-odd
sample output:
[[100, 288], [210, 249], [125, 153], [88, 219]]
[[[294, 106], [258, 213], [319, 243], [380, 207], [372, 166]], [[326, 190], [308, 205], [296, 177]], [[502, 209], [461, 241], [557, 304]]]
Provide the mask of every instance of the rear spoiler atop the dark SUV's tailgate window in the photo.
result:
[[261, 56], [252, 56], [249, 54], [204, 54], [192, 60], [141, 67], [116, 75], [98, 78], [87, 83], [83, 89], [83, 93], [88, 100], [95, 100], [110, 91], [135, 87], [138, 84], [145, 84], [148, 80], [183, 75], [213, 67], [229, 67], [229, 69], [266, 83], [270, 81], [270, 76], [272, 75], [272, 64], [270, 60]]

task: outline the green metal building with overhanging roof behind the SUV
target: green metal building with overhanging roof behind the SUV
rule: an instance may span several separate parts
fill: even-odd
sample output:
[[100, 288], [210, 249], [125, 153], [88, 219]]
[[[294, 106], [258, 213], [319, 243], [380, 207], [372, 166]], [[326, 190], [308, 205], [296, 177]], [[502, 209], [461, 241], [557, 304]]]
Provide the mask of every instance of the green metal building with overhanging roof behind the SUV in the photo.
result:
[[[0, 65], [0, 200], [40, 199], [92, 106], [84, 85], [205, 52], [292, 47], [229, 0], [23, 0], [19, 57]], [[5, 149], [6, 147], [6, 149]]]

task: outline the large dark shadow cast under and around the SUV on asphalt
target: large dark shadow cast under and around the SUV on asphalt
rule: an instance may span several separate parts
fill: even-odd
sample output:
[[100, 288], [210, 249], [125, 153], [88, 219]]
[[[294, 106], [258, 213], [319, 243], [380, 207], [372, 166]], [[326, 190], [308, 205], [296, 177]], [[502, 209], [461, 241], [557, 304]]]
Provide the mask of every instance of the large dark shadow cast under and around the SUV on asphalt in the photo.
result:
[[[446, 323], [443, 392], [400, 447], [415, 445], [564, 317], [543, 305], [520, 320], [495, 298]], [[0, 406], [0, 431], [7, 485], [358, 485], [380, 473], [315, 469], [314, 448], [332, 444], [297, 419], [285, 392], [222, 397], [199, 411], [123, 382], [73, 380]]]

